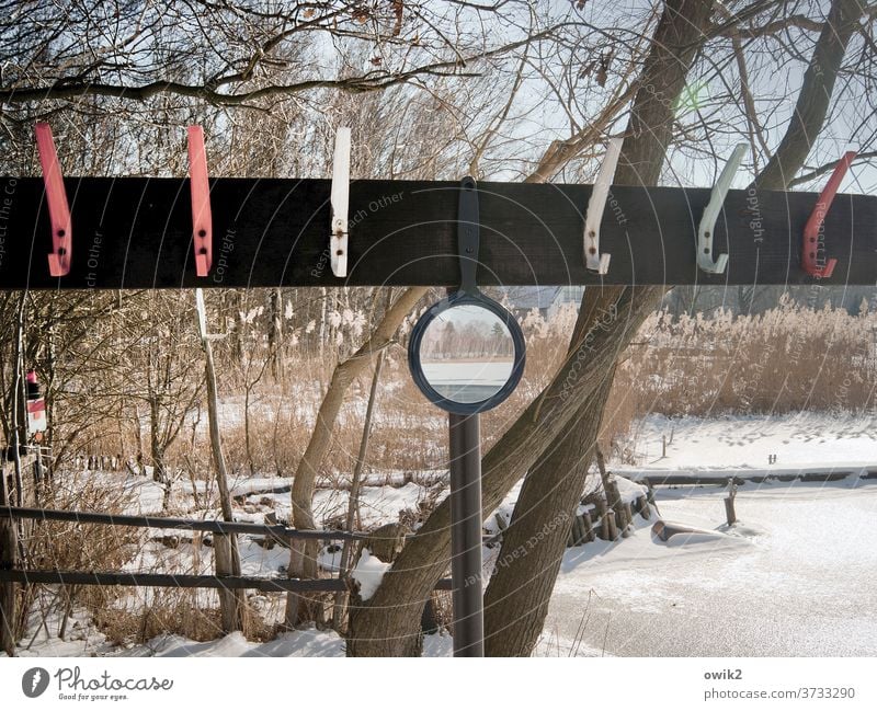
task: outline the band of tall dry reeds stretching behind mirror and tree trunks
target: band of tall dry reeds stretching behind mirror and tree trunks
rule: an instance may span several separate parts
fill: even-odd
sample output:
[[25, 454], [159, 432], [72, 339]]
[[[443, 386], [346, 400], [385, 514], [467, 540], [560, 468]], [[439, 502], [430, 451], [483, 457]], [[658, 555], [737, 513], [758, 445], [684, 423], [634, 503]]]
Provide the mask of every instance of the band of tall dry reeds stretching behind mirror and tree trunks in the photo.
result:
[[[485, 448], [550, 381], [568, 346], [576, 312], [560, 310], [546, 322], [524, 319], [527, 366], [513, 395], [482, 417]], [[812, 311], [790, 301], [755, 317], [719, 313], [672, 319], [653, 314], [624, 354], [603, 423], [604, 444], [649, 413], [710, 416], [797, 410], [861, 411], [874, 406], [874, 329], [877, 316]], [[289, 477], [315, 425], [332, 364], [288, 355], [284, 375], [265, 375], [244, 394], [243, 374], [226, 371], [223, 444], [235, 475]], [[371, 370], [353, 382], [323, 463], [329, 481], [344, 484], [356, 461]], [[433, 408], [408, 374], [405, 348], [387, 352], [366, 460], [366, 473], [440, 469], [447, 459], [446, 415]], [[95, 423], [103, 427], [105, 423]], [[168, 450], [181, 479], [209, 477], [206, 415], [184, 427]], [[130, 457], [130, 434], [107, 441]], [[100, 440], [95, 436], [92, 438]], [[113, 451], [112, 449], [110, 451]], [[209, 502], [197, 502], [204, 506]]]

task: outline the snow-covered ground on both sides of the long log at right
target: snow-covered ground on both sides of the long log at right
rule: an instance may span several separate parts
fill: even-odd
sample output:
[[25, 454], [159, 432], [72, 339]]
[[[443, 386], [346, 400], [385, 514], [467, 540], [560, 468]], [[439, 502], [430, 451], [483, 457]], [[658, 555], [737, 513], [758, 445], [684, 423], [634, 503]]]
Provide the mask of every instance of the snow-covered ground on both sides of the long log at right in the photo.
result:
[[877, 654], [877, 480], [859, 479], [877, 469], [877, 417], [654, 416], [636, 449], [638, 466], [614, 470], [854, 473], [747, 483], [730, 530], [724, 488], [658, 488], [664, 519], [713, 532], [662, 543], [641, 527], [620, 543], [569, 549], [547, 637], [616, 655]]

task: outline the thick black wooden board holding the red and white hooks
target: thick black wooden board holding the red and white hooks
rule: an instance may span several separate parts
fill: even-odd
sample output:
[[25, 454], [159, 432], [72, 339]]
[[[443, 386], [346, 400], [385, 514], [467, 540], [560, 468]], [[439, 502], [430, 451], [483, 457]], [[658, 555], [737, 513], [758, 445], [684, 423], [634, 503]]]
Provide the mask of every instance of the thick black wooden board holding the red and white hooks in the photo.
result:
[[[458, 183], [351, 184], [349, 276], [329, 260], [330, 181], [216, 179], [213, 270], [195, 275], [189, 181], [68, 177], [72, 267], [49, 275], [50, 228], [43, 182], [0, 177], [0, 288], [180, 288], [459, 284]], [[816, 193], [730, 191], [713, 234], [726, 274], [695, 261], [709, 188], [612, 188], [600, 251], [608, 274], [584, 268], [590, 185], [480, 183], [478, 283], [812, 284], [799, 266]], [[820, 284], [877, 283], [877, 197], [838, 195], [820, 257], [838, 266]]]

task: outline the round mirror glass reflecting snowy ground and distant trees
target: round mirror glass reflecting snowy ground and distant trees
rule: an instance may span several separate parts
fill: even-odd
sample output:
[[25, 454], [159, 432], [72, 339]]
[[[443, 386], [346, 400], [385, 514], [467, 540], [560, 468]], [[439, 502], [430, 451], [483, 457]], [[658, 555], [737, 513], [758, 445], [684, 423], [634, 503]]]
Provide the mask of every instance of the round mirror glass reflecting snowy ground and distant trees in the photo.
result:
[[452, 402], [481, 402], [512, 376], [514, 341], [496, 313], [466, 303], [452, 307], [426, 326], [420, 364], [432, 388]]

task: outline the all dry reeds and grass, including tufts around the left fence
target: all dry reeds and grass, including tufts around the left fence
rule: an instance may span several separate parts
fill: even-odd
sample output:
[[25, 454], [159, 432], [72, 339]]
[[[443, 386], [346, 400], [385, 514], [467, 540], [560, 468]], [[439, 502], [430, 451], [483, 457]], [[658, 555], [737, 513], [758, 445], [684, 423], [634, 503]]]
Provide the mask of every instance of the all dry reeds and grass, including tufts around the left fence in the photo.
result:
[[[571, 314], [574, 318], [574, 313]], [[568, 345], [572, 318], [551, 323], [531, 319], [526, 328], [527, 368], [519, 390], [482, 421], [489, 447], [553, 377]], [[602, 444], [619, 449], [630, 424], [650, 413], [710, 416], [725, 413], [783, 413], [797, 410], [864, 411], [875, 408], [877, 314], [851, 317], [843, 310], [810, 311], [789, 301], [758, 317], [716, 318], [653, 314], [625, 353], [606, 415]], [[291, 475], [307, 446], [331, 367], [291, 358], [278, 381], [264, 379], [246, 399], [230, 376], [223, 383], [223, 443], [236, 475], [250, 472]], [[330, 482], [350, 481], [362, 436], [371, 372], [354, 382], [323, 465]], [[249, 401], [249, 406], [247, 402]], [[213, 470], [206, 417], [189, 426], [168, 451], [179, 478], [207, 479]], [[104, 423], [105, 424], [105, 423]], [[95, 422], [95, 427], [103, 426]], [[116, 433], [112, 433], [115, 437]], [[114, 441], [112, 439], [111, 441]], [[130, 435], [118, 441], [130, 452]], [[96, 437], [95, 440], [100, 438]], [[441, 469], [446, 465], [446, 415], [428, 403], [409, 375], [405, 352], [388, 352], [366, 473]], [[613, 445], [615, 448], [613, 449]], [[121, 512], [124, 494], [96, 480], [65, 481], [42, 503], [49, 507]], [[214, 486], [215, 490], [215, 486]], [[115, 493], [114, 493], [115, 492]], [[174, 500], [176, 514], [215, 506], [215, 493], [200, 501]], [[118, 570], [143, 552], [147, 535], [138, 529], [46, 523], [33, 526], [27, 550], [42, 569]], [[197, 573], [209, 560], [162, 558], [159, 569]], [[221, 634], [215, 592], [171, 589], [160, 595], [129, 588], [83, 587], [75, 601], [86, 606], [102, 631], [117, 642], [145, 641], [163, 632], [209, 640]], [[56, 596], [58, 604], [65, 604]], [[436, 595], [437, 615], [446, 619], [447, 596]], [[281, 615], [281, 596], [251, 596], [251, 637], [269, 639]]]

